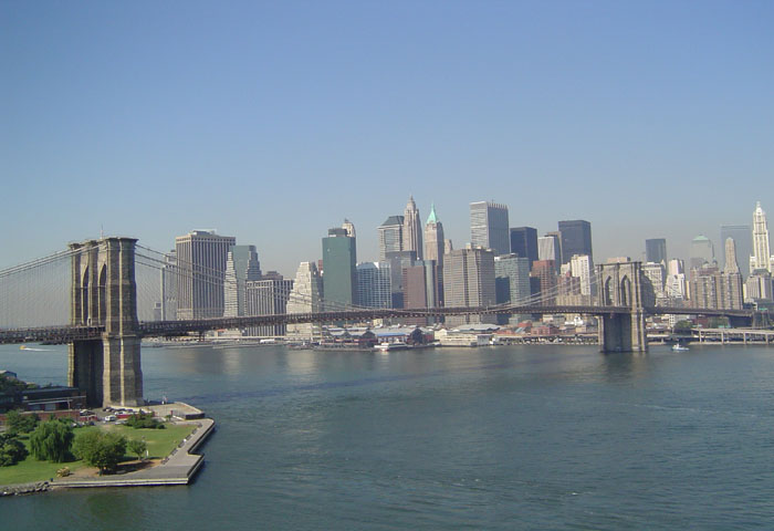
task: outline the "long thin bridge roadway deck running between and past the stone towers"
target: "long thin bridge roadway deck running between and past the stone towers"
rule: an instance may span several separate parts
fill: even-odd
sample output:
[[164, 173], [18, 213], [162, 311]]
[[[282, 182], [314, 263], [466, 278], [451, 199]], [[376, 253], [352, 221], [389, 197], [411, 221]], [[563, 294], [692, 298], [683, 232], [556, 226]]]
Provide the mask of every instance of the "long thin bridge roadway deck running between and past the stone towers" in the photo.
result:
[[[645, 308], [649, 315], [705, 315], [729, 317], [752, 317], [751, 310], [710, 310], [694, 308], [651, 306]], [[295, 323], [335, 323], [391, 317], [438, 317], [446, 315], [492, 315], [502, 313], [552, 314], [579, 313], [586, 315], [616, 315], [631, 313], [627, 306], [571, 306], [571, 305], [517, 305], [517, 306], [452, 306], [426, 308], [414, 310], [368, 309], [339, 312], [286, 313], [278, 315], [255, 315], [243, 317], [216, 317], [187, 321], [155, 321], [139, 323], [138, 335], [142, 337], [172, 337], [190, 332], [208, 332], [221, 329], [240, 329], [272, 324]], [[48, 343], [66, 344], [76, 341], [102, 339], [104, 326], [41, 326], [29, 329], [0, 330], [0, 344]]]

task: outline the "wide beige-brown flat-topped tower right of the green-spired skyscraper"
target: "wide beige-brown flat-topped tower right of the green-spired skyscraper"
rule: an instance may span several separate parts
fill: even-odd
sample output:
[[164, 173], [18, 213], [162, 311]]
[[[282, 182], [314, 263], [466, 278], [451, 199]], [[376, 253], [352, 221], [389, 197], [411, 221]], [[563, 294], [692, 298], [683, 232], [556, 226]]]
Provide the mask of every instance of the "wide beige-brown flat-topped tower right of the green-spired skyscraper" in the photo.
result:
[[[469, 246], [443, 257], [443, 300], [447, 306], [491, 306], [494, 293], [494, 252]], [[466, 323], [494, 323], [493, 315], [448, 316], [450, 326]]]

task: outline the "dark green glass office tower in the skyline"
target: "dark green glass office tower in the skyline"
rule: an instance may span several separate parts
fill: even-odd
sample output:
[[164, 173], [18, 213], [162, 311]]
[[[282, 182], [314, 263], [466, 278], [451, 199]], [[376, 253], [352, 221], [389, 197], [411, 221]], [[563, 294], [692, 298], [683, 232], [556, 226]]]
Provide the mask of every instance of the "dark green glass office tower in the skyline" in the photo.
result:
[[357, 244], [347, 229], [328, 229], [323, 238], [323, 296], [325, 310], [357, 304]]

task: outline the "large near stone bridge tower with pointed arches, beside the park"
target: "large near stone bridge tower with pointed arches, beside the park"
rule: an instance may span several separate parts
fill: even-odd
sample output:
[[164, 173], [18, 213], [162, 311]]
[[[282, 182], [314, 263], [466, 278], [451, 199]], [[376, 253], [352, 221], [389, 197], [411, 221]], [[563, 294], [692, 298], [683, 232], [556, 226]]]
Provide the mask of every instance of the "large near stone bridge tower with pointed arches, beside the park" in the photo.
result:
[[143, 399], [134, 238], [71, 243], [71, 324], [104, 326], [101, 340], [70, 345], [67, 383], [91, 406], [139, 406]]

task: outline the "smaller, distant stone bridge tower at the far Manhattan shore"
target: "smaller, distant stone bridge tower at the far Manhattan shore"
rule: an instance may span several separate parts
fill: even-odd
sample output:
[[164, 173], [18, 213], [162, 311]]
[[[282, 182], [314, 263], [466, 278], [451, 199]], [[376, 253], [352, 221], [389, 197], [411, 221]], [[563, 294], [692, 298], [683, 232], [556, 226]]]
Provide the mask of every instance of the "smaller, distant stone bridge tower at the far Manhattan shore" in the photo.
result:
[[641, 262], [597, 266], [600, 304], [626, 308], [625, 312], [604, 315], [599, 322], [603, 352], [647, 352], [646, 306], [655, 304], [653, 288]]

